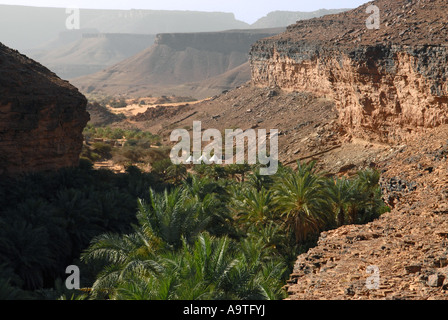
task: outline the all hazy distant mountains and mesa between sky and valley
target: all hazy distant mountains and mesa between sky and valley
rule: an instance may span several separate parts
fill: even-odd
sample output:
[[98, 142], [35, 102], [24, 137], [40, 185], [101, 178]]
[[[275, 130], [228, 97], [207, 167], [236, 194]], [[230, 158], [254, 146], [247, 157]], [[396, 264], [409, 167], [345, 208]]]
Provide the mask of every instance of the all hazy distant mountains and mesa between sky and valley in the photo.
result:
[[0, 42], [86, 93], [205, 97], [250, 79], [256, 40], [344, 10], [276, 11], [249, 25], [233, 13], [80, 9], [80, 29], [68, 30], [72, 12], [64, 8], [0, 5]]

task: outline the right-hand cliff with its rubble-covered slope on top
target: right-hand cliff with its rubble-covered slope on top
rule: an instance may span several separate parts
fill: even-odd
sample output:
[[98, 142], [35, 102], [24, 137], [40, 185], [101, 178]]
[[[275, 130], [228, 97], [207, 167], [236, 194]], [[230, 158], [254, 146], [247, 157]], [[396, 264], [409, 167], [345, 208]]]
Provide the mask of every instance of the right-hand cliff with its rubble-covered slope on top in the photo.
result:
[[252, 81], [333, 99], [354, 136], [404, 141], [448, 123], [447, 12], [445, 0], [379, 0], [300, 21], [252, 46]]

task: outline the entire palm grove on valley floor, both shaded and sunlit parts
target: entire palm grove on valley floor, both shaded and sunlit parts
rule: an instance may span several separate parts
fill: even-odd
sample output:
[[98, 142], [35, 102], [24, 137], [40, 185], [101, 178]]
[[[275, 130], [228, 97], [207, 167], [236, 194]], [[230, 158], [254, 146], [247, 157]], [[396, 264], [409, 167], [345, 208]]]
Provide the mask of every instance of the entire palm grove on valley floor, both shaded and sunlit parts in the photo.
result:
[[[159, 156], [151, 173], [82, 161], [2, 179], [0, 297], [282, 299], [297, 255], [321, 231], [388, 209], [371, 170], [344, 179], [313, 163], [275, 176], [201, 165], [193, 174]], [[89, 292], [64, 289], [71, 264]]]

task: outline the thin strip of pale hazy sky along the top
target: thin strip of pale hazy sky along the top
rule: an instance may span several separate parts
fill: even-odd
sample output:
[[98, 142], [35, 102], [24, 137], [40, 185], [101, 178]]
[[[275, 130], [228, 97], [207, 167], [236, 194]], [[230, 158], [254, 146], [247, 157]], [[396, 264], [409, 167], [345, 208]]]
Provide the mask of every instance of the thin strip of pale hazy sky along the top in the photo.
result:
[[0, 4], [35, 7], [233, 12], [238, 20], [247, 23], [253, 23], [276, 10], [314, 11], [356, 8], [366, 2], [368, 0], [0, 0]]

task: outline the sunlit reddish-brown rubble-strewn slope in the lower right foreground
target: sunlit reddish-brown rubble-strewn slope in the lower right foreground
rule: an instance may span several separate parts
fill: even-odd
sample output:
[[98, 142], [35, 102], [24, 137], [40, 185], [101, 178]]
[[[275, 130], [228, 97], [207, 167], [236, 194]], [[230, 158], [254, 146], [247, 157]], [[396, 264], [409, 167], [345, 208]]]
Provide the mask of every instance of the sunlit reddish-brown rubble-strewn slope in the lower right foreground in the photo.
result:
[[378, 164], [392, 211], [322, 233], [299, 256], [289, 299], [448, 299], [447, 134], [428, 129]]

